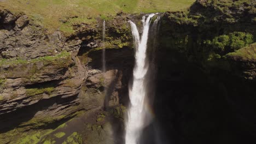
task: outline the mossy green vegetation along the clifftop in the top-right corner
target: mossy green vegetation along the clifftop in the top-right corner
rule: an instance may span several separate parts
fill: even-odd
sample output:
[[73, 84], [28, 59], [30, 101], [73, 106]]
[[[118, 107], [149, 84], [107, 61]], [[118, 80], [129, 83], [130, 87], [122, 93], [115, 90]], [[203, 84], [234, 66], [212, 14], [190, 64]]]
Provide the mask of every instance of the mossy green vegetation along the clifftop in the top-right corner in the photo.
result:
[[[196, 1], [195, 5], [188, 10], [170, 13], [170, 19], [179, 24], [194, 26], [203, 26], [212, 22], [236, 23], [241, 19], [254, 21], [252, 16], [245, 17], [245, 13], [255, 14], [256, 11], [255, 4], [251, 0], [207, 0]], [[201, 6], [204, 8], [199, 9]], [[237, 13], [237, 11], [241, 11], [241, 8], [244, 11]], [[247, 10], [248, 12], [246, 12]]]

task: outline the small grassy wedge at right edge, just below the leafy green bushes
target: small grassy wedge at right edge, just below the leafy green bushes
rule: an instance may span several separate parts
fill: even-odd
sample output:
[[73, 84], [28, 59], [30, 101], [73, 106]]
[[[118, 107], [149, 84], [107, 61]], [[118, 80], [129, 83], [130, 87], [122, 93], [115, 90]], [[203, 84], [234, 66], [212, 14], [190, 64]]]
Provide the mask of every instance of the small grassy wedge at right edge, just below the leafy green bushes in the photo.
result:
[[256, 60], [256, 43], [243, 47], [235, 52], [228, 53], [226, 56], [238, 57], [243, 60], [255, 61]]

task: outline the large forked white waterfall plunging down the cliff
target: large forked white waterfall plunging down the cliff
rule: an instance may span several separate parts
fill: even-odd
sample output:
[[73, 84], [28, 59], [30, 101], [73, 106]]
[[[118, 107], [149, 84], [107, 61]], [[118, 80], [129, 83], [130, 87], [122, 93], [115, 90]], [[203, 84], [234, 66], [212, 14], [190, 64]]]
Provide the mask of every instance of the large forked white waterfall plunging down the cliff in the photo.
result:
[[146, 50], [149, 27], [150, 21], [154, 15], [156, 14], [150, 14], [147, 17], [143, 16], [143, 33], [141, 39], [139, 37], [137, 26], [132, 21], [129, 21], [131, 24], [136, 53], [135, 67], [133, 69], [133, 83], [132, 87], [129, 87], [130, 107], [128, 110], [128, 118], [126, 120], [126, 144], [137, 144], [142, 129], [146, 127], [150, 121], [150, 113], [145, 109], [145, 106], [147, 105], [145, 76], [148, 71]]

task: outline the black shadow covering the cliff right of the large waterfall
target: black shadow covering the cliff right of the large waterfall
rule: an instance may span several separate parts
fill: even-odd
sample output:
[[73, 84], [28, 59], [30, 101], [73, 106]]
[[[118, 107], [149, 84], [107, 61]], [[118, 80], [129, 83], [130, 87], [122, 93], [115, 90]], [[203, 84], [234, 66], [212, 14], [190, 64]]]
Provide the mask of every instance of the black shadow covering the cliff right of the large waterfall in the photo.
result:
[[154, 110], [163, 135], [177, 144], [255, 143], [255, 80], [205, 67], [203, 51], [207, 49], [202, 43], [216, 35], [250, 31], [252, 27], [246, 29], [248, 23], [162, 24], [165, 26], [160, 29], [156, 52]]

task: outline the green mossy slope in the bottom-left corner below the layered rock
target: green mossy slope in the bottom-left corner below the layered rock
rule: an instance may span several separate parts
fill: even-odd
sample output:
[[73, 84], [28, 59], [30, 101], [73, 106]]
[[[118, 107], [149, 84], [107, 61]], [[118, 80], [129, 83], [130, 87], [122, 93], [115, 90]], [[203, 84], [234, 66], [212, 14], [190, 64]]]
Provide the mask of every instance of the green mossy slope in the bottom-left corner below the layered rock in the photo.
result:
[[[79, 115], [78, 113], [74, 113], [71, 117]], [[0, 143], [9, 142], [10, 144], [23, 143], [23, 144], [35, 144], [35, 143], [43, 143], [50, 142], [55, 143], [54, 133], [56, 131], [60, 131], [61, 128], [66, 127], [66, 123], [59, 125], [56, 129], [40, 129], [39, 127], [45, 128], [46, 125], [51, 124], [56, 121], [60, 121], [61, 118], [65, 118], [65, 116], [59, 116], [55, 118], [33, 118], [28, 122], [22, 123], [16, 129], [10, 130], [7, 133], [3, 133], [0, 135]], [[30, 130], [30, 131], [27, 131]], [[63, 134], [57, 134], [57, 136]]]

